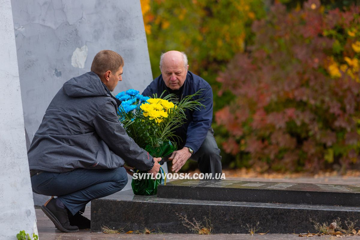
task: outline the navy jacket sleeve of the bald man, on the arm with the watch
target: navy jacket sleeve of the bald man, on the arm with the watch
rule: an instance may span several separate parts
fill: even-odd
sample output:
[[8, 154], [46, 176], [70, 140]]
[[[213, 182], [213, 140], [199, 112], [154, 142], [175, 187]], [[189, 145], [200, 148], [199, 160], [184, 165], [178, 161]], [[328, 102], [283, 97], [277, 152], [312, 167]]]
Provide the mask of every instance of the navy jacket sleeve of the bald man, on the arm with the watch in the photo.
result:
[[204, 99], [201, 103], [205, 105], [205, 108], [202, 107], [201, 110], [195, 110], [193, 112], [193, 120], [190, 122], [186, 132], [186, 142], [184, 145], [193, 149], [194, 153], [201, 147], [211, 127], [213, 102], [212, 89], [210, 86], [206, 90], [203, 90], [201, 98]]

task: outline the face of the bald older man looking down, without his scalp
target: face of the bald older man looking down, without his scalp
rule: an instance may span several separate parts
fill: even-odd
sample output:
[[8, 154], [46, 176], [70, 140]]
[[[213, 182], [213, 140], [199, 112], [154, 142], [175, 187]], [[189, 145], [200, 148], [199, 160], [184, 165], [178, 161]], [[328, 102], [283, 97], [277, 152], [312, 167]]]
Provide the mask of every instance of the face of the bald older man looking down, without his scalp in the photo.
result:
[[189, 65], [185, 68], [182, 58], [175, 61], [174, 59], [171, 61], [166, 61], [166, 59], [164, 59], [161, 74], [165, 85], [172, 90], [180, 89], [185, 82], [188, 68]]

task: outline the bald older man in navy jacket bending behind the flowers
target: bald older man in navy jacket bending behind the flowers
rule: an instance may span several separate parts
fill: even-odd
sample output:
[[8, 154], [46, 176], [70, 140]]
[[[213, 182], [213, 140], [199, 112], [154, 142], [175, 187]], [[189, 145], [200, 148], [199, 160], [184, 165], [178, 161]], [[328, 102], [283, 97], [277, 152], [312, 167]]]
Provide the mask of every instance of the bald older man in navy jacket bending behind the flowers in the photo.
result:
[[[212, 122], [212, 89], [201, 77], [188, 71], [188, 59], [185, 53], [168, 51], [161, 55], [161, 75], [150, 83], [144, 90], [144, 96], [157, 94], [160, 96], [165, 91], [165, 96], [175, 94], [172, 101], [181, 101], [185, 96], [192, 95], [202, 90], [200, 96], [206, 108], [195, 111], [186, 111], [186, 122], [176, 129], [175, 134], [181, 141], [177, 142], [178, 149], [166, 160], [172, 160], [172, 171], [179, 171], [185, 162], [191, 158], [198, 162], [202, 173], [221, 173], [220, 149], [217, 147], [213, 136]], [[164, 96], [164, 95], [163, 95]]]

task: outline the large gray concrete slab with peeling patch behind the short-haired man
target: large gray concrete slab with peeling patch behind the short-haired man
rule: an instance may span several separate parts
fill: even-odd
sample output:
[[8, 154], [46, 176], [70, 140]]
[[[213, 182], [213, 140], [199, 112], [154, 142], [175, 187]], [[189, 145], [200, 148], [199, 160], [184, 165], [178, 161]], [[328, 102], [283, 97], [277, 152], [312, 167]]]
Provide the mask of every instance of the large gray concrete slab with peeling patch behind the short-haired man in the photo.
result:
[[[64, 82], [90, 71], [98, 51], [110, 49], [125, 60], [115, 94], [141, 92], [152, 81], [139, 0], [12, 0], [12, 5], [27, 147], [53, 96]], [[47, 199], [34, 195], [36, 205]]]

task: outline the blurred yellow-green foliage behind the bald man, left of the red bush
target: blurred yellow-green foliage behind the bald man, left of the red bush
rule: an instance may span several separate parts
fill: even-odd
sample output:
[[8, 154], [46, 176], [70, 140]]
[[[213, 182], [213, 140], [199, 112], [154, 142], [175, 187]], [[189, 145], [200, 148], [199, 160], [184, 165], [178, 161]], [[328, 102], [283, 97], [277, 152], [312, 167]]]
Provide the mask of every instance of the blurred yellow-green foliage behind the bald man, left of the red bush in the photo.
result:
[[190, 71], [215, 82], [220, 67], [244, 50], [248, 26], [265, 13], [262, 0], [140, 2], [154, 78], [160, 54], [179, 50]]

